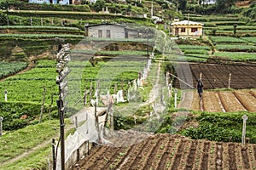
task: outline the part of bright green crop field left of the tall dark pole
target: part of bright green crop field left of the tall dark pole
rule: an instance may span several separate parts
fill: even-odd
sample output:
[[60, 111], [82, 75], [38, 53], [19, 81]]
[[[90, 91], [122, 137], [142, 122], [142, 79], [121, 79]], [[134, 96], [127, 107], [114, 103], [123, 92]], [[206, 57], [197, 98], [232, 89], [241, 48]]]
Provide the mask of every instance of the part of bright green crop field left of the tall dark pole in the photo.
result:
[[[38, 62], [40, 63], [40, 61]], [[49, 105], [51, 102], [51, 94], [54, 94], [54, 99], [56, 99], [56, 94], [58, 93], [58, 88], [55, 83], [55, 61], [49, 60], [49, 63], [53, 66], [34, 68], [0, 82], [0, 92], [3, 92], [5, 89], [8, 90], [8, 101], [42, 103], [45, 88], [45, 104]], [[0, 101], [3, 100], [4, 97], [2, 95]], [[54, 105], [56, 105], [55, 102]]]

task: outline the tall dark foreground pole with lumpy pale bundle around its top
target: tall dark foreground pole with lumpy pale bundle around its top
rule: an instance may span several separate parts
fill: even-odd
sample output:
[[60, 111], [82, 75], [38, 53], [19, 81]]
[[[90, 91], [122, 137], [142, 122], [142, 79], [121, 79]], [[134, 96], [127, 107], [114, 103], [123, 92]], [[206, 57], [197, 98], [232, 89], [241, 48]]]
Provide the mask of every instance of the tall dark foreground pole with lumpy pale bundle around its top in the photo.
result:
[[[57, 39], [60, 41], [59, 39]], [[61, 136], [61, 170], [65, 170], [65, 135], [64, 135], [64, 111], [67, 107], [67, 103], [64, 103], [67, 97], [67, 80], [66, 77], [70, 70], [67, 68], [67, 63], [70, 60], [70, 48], [69, 44], [61, 46], [59, 44], [59, 52], [57, 54], [56, 71], [59, 76], [56, 77], [56, 83], [59, 85], [59, 99], [57, 100], [58, 112], [60, 116], [60, 136]]]

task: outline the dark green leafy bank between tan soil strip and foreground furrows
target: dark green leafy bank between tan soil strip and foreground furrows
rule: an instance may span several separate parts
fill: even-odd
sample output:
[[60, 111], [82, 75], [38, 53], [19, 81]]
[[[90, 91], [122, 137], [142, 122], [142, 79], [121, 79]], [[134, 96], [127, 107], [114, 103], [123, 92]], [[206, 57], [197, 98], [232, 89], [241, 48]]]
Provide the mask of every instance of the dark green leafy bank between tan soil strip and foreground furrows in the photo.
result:
[[183, 131], [183, 134], [192, 139], [208, 139], [218, 142], [241, 142], [242, 118], [246, 114], [247, 138], [250, 142], [256, 143], [255, 121], [256, 114], [249, 112], [234, 113], [202, 113], [196, 119], [199, 127], [190, 127]]

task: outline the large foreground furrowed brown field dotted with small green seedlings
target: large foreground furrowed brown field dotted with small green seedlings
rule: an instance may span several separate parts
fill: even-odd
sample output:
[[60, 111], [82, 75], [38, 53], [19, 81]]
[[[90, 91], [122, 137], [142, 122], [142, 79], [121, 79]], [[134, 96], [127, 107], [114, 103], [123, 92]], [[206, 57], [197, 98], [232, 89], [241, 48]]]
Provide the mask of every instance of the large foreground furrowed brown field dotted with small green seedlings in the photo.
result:
[[[125, 133], [123, 134], [125, 138]], [[115, 142], [123, 143], [123, 138]], [[256, 144], [218, 143], [155, 134], [130, 146], [98, 145], [71, 169], [253, 169]]]

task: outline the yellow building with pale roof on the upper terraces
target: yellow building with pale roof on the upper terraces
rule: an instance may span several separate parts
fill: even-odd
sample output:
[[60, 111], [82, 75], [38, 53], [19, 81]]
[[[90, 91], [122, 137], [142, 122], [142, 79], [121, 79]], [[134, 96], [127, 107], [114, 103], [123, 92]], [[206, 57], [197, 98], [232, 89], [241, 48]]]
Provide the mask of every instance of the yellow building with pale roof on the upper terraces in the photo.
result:
[[190, 20], [177, 21], [171, 24], [171, 34], [173, 36], [201, 36], [203, 34], [203, 24]]

